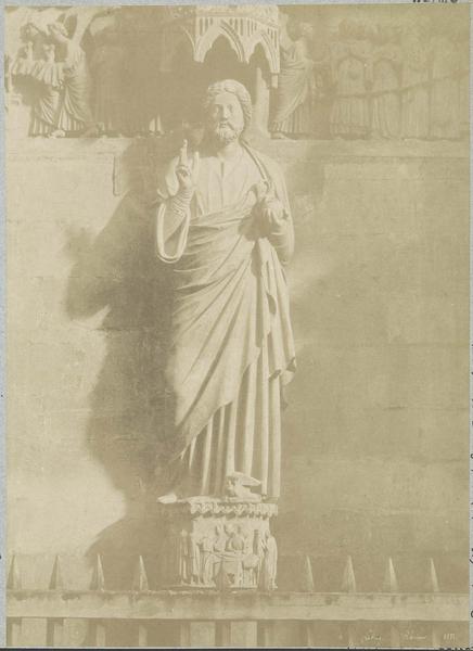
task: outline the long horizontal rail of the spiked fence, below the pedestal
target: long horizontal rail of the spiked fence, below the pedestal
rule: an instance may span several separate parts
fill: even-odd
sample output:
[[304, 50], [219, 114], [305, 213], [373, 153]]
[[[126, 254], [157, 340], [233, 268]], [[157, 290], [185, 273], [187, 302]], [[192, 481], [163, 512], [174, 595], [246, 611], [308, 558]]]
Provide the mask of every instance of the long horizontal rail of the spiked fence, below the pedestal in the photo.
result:
[[466, 593], [7, 591], [13, 620], [466, 622], [468, 615]]

